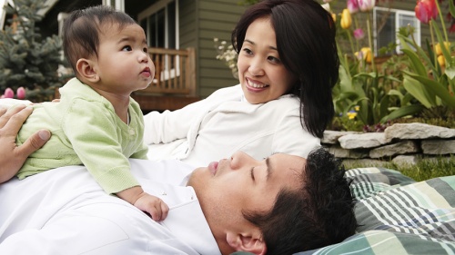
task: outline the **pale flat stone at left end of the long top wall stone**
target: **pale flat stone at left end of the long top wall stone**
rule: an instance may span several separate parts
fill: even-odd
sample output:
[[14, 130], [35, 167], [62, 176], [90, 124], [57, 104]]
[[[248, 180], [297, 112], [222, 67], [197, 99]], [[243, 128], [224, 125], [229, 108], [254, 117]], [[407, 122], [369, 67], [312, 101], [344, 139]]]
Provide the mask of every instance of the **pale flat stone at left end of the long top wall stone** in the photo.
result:
[[390, 140], [386, 139], [383, 132], [347, 134], [339, 138], [339, 144], [344, 149], [374, 148], [388, 142]]

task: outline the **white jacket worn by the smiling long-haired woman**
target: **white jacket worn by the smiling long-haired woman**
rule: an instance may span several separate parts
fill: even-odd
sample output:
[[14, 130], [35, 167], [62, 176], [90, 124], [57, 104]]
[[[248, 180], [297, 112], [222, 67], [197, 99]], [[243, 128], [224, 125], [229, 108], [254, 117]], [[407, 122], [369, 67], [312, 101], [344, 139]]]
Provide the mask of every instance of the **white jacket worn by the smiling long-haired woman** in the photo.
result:
[[240, 85], [222, 88], [177, 111], [144, 117], [149, 159], [177, 159], [195, 166], [227, 158], [237, 151], [257, 160], [283, 152], [307, 157], [319, 138], [302, 128], [300, 102], [283, 95], [251, 104]]

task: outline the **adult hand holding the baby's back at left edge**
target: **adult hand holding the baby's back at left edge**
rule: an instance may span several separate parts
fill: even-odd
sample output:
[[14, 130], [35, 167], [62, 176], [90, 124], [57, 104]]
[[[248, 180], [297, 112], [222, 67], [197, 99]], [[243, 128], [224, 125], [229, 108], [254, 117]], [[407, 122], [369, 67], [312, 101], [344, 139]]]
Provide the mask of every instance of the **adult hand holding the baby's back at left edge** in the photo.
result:
[[41, 148], [51, 137], [47, 130], [40, 130], [17, 146], [15, 137], [33, 112], [32, 107], [17, 105], [10, 109], [0, 108], [0, 183], [8, 181], [19, 171], [25, 159]]

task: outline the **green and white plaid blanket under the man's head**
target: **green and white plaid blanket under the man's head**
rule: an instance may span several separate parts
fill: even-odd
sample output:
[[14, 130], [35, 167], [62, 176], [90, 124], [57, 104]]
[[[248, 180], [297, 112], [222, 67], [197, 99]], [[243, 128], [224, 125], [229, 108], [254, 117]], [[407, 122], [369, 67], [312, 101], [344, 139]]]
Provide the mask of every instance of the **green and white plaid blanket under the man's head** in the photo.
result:
[[298, 255], [455, 254], [455, 176], [416, 182], [383, 168], [346, 175], [358, 200], [358, 233]]

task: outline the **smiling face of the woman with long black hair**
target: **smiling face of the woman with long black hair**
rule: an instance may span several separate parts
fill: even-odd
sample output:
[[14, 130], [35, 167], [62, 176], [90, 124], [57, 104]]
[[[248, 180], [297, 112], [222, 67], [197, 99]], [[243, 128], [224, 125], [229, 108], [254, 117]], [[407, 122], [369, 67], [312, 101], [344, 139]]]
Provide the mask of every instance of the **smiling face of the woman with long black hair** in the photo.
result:
[[295, 83], [294, 75], [280, 61], [269, 18], [259, 18], [248, 26], [238, 54], [238, 78], [249, 103], [275, 100]]

